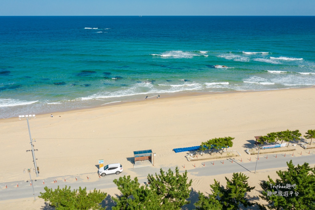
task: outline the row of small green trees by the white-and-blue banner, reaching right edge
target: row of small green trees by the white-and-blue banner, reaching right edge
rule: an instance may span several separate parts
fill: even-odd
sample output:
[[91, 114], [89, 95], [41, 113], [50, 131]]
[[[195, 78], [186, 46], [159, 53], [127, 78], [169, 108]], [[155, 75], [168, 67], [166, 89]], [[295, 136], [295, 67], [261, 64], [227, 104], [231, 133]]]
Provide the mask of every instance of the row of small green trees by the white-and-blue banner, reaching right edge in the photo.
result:
[[[299, 130], [290, 131], [288, 129], [286, 131], [268, 133], [266, 136], [260, 137], [258, 142], [268, 145], [268, 143], [274, 143], [275, 144], [278, 141], [279, 142], [281, 141], [281, 143], [283, 143], [283, 142], [290, 142], [290, 141], [293, 141], [293, 140], [300, 141], [301, 140], [300, 136], [302, 136], [302, 134], [300, 133]], [[307, 138], [307, 139], [310, 138], [311, 139], [311, 143], [312, 143], [312, 139], [315, 138], [315, 130], [308, 130], [304, 137]]]

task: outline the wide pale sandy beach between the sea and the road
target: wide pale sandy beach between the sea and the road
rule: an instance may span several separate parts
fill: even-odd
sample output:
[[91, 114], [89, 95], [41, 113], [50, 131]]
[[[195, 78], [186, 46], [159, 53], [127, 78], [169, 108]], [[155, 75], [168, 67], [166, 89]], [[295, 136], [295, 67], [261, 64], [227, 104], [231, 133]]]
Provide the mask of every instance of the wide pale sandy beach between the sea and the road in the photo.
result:
[[[106, 164], [121, 163], [124, 174], [133, 177], [135, 174], [128, 170], [133, 168], [129, 158], [133, 157], [133, 151], [145, 149], [156, 153], [154, 167], [181, 166], [188, 163], [186, 153], [175, 153], [172, 149], [197, 146], [224, 136], [235, 137], [231, 149], [246, 159], [250, 155], [245, 149], [253, 146], [254, 136], [286, 129], [299, 129], [304, 135], [314, 129], [314, 91], [314, 88], [306, 88], [161, 96], [147, 101], [51, 113], [52, 118], [50, 114], [37, 115], [29, 121], [32, 138], [36, 139], [34, 148], [40, 179], [92, 172], [97, 176], [95, 165], [99, 159], [104, 159]], [[0, 183], [26, 180], [23, 169], [34, 167], [31, 151], [27, 151], [31, 147], [26, 119], [2, 119], [0, 132], [0, 158], [3, 160]], [[305, 151], [300, 146], [296, 149]], [[188, 169], [193, 167], [190, 165]], [[265, 180], [268, 174], [276, 176], [275, 170], [247, 175], [250, 184], [258, 188], [255, 180]], [[205, 184], [193, 183], [194, 190], [209, 192], [213, 178], [198, 177]], [[216, 179], [225, 184], [224, 177]], [[259, 194], [254, 191], [253, 195]], [[19, 202], [26, 202], [24, 200]]]

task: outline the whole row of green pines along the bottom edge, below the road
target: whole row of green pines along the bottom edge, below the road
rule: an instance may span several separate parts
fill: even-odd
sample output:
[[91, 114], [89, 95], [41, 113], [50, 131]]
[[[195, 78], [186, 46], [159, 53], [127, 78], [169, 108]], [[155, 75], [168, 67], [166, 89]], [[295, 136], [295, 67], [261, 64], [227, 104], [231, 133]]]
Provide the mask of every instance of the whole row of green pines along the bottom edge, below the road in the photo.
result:
[[[288, 171], [277, 171], [279, 179], [275, 181], [268, 176], [268, 181], [263, 181], [261, 187], [263, 189], [260, 197], [268, 202], [269, 209], [315, 209], [315, 167], [311, 168], [308, 163], [294, 166], [292, 160], [287, 162]], [[123, 176], [115, 179], [114, 183], [120, 190], [121, 195], [112, 197], [116, 202], [113, 210], [179, 210], [184, 205], [189, 204], [187, 199], [190, 197], [190, 187], [192, 180], [188, 180], [187, 171], [182, 175], [178, 168], [175, 174], [172, 170], [164, 172], [160, 170], [160, 174], [148, 175], [150, 186], [140, 186], [138, 178], [133, 180], [130, 176]], [[233, 173], [232, 179], [226, 178], [226, 187], [220, 182], [214, 180], [214, 184], [210, 184], [212, 193], [204, 195], [198, 192], [198, 201], [194, 204], [198, 210], [238, 210], [248, 206], [258, 205], [260, 209], [266, 209], [257, 202], [251, 200], [252, 197], [248, 193], [255, 187], [249, 186], [248, 177], [243, 173]], [[270, 184], [288, 186], [295, 185], [295, 192], [298, 196], [278, 196], [276, 190], [270, 188]], [[93, 190], [88, 194], [86, 188], [79, 190], [70, 190], [67, 186], [60, 189], [52, 190], [44, 188], [45, 192], [40, 193], [39, 197], [50, 201], [49, 205], [55, 207], [56, 210], [66, 209], [104, 209], [100, 203], [106, 198], [106, 193]], [[278, 189], [283, 190], [283, 189]], [[283, 190], [284, 191], [284, 190]], [[294, 193], [295, 193], [294, 192]]]

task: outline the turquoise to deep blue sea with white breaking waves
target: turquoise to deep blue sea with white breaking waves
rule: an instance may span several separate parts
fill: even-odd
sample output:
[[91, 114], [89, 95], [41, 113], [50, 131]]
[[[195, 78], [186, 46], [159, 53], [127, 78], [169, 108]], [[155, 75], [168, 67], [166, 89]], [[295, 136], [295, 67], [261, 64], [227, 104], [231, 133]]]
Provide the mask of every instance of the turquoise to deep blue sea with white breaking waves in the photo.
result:
[[0, 17], [1, 118], [313, 85], [314, 16]]

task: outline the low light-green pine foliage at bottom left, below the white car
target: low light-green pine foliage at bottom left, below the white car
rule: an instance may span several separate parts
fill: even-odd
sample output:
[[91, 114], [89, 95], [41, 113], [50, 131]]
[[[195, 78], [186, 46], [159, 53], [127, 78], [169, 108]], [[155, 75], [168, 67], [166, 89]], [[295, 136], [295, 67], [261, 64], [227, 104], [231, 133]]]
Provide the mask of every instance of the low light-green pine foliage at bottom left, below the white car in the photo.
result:
[[88, 194], [86, 188], [82, 189], [79, 187], [78, 190], [71, 191], [70, 187], [53, 190], [47, 186], [44, 188], [45, 192], [40, 192], [40, 198], [45, 201], [49, 201], [49, 205], [55, 207], [56, 210], [72, 210], [72, 209], [104, 209], [100, 203], [106, 198], [106, 193], [97, 191], [94, 189]]

